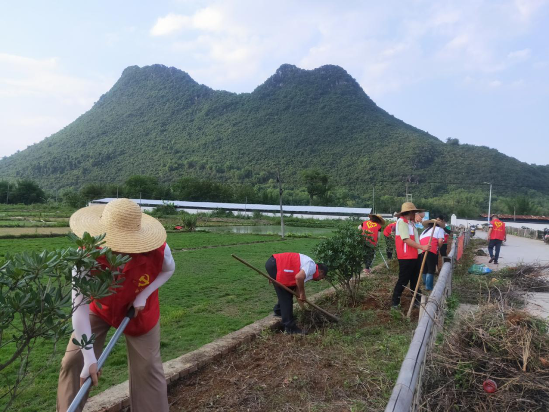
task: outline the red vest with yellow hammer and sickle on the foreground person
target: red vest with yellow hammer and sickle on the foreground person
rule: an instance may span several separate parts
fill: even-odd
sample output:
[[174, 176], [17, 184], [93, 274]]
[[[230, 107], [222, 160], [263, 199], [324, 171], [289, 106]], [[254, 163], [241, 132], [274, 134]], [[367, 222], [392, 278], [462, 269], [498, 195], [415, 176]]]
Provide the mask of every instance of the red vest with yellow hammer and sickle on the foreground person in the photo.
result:
[[[146, 253], [130, 254], [131, 260], [126, 263], [120, 277], [124, 282], [120, 287], [114, 288], [114, 293], [98, 300], [93, 300], [89, 308], [109, 325], [119, 327], [126, 316], [128, 306], [135, 300], [139, 292], [150, 285], [161, 272], [164, 264], [164, 249], [166, 243], [158, 249]], [[102, 257], [99, 263], [107, 266], [107, 261]], [[101, 308], [97, 303], [101, 304]], [[137, 318], [130, 320], [124, 333], [131, 336], [139, 336], [147, 333], [158, 323], [160, 319], [160, 306], [158, 303], [158, 290], [154, 291], [147, 299], [145, 308]]]

